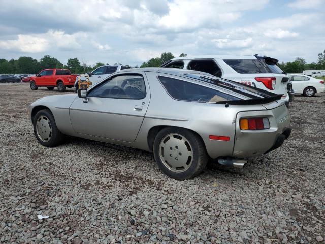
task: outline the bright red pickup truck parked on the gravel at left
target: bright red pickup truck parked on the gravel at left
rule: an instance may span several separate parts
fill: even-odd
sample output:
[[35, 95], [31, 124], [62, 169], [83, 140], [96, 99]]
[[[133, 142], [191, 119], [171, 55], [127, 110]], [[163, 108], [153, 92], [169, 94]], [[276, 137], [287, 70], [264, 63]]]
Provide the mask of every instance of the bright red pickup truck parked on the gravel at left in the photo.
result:
[[30, 79], [30, 89], [37, 90], [39, 87], [47, 87], [53, 90], [55, 86], [60, 92], [66, 87], [72, 88], [75, 85], [77, 75], [72, 75], [70, 70], [46, 69]]

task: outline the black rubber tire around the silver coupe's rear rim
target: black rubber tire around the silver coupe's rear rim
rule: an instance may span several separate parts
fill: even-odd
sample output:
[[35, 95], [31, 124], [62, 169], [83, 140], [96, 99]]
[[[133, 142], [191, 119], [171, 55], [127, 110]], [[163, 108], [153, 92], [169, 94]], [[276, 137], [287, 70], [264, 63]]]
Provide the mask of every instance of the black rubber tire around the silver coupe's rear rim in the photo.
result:
[[[182, 171], [182, 172], [175, 172], [178, 169], [176, 167], [174, 170], [170, 169], [170, 168], [173, 168], [174, 166], [171, 166], [167, 161], [165, 161], [166, 163], [163, 162], [163, 159], [160, 156], [160, 153], [161, 153], [160, 150], [163, 150], [162, 149], [163, 147], [160, 148], [160, 143], [164, 143], [163, 141], [166, 141], [166, 139], [165, 139], [166, 136], [168, 137], [169, 135], [174, 134], [174, 133], [177, 134], [177, 135], [175, 135], [176, 137], [172, 138], [174, 141], [175, 141], [175, 138], [179, 139], [179, 138], [177, 138], [177, 136], [180, 136], [182, 139], [184, 139], [186, 142], [189, 143], [189, 147], [192, 149], [191, 150], [192, 158], [190, 158], [191, 156], [188, 156], [188, 160], [187, 160], [187, 161], [189, 161], [189, 159], [192, 160], [191, 162], [189, 162], [190, 163], [189, 168], [185, 169], [183, 167], [184, 171]], [[168, 140], [170, 140], [170, 139], [168, 139]], [[181, 139], [179, 139], [179, 140], [181, 140]], [[170, 148], [172, 148], [172, 147], [170, 147]], [[181, 148], [181, 146], [179, 148]], [[170, 149], [172, 151], [168, 151], [168, 153], [166, 154], [166, 157], [168, 157], [169, 155], [170, 155], [170, 157], [177, 156], [178, 154], [182, 155], [181, 151], [180, 151], [181, 149], [179, 149], [179, 148], [177, 146], [175, 146], [175, 148]], [[176, 149], [179, 149], [179, 151]], [[188, 151], [190, 152], [190, 150], [188, 150]], [[174, 179], [178, 179], [178, 180], [190, 179], [190, 178], [193, 178], [193, 177], [197, 176], [198, 174], [200, 174], [202, 172], [202, 170], [206, 167], [208, 158], [209, 158], [207, 151], [205, 149], [205, 146], [204, 146], [204, 142], [202, 141], [201, 137], [189, 130], [186, 130], [186, 129], [180, 128], [180, 127], [166, 127], [164, 129], [162, 129], [161, 131], [159, 131], [157, 136], [155, 137], [155, 140], [153, 143], [153, 153], [154, 153], [154, 158], [155, 158], [159, 168], [161, 169], [161, 171], [163, 171], [167, 176], [174, 178]], [[171, 154], [169, 154], [169, 153], [171, 153]], [[188, 152], [185, 151], [184, 155], [186, 155], [186, 153], [188, 153]], [[172, 156], [172, 154], [173, 154], [173, 156]], [[176, 157], [175, 157], [175, 159], [178, 160]], [[169, 168], [168, 166], [166, 166], [166, 164], [170, 165], [171, 167]], [[180, 167], [180, 168], [182, 168], [182, 167]]]

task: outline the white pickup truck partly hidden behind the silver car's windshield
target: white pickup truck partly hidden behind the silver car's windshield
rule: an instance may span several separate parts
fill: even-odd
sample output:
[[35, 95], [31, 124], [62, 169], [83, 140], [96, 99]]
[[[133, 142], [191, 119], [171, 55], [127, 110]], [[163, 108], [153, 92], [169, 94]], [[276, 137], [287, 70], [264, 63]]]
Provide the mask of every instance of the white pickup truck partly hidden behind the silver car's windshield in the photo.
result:
[[[88, 73], [89, 81], [92, 82], [92, 85], [94, 85], [100, 82], [101, 80], [107, 78], [108, 76], [110, 76], [110, 74], [113, 74], [114, 72], [129, 68], [130, 67], [127, 67], [125, 65], [103, 65]], [[78, 78], [79, 76], [76, 77], [75, 92], [77, 92], [78, 90]]]

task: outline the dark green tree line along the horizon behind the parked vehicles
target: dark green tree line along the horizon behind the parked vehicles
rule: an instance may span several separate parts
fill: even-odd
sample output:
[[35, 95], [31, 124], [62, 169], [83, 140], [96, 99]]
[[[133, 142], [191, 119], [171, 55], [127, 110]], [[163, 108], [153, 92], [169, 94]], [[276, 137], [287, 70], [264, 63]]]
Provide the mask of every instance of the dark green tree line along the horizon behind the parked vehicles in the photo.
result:
[[[182, 53], [180, 57], [186, 57], [185, 53]], [[140, 67], [159, 67], [168, 60], [175, 56], [171, 52], [163, 52], [160, 57], [154, 57], [147, 62], [143, 62]], [[117, 63], [115, 63], [117, 64]], [[120, 63], [118, 63], [120, 64]], [[45, 55], [40, 60], [32, 57], [19, 57], [18, 59], [6, 60], [0, 59], [0, 74], [36, 74], [44, 69], [69, 69], [71, 73], [81, 74], [90, 72], [97, 67], [105, 65], [98, 62], [94, 66], [87, 65], [83, 59], [81, 62], [78, 58], [69, 58], [66, 65], [63, 65], [59, 60], [49, 55]], [[106, 63], [108, 65], [108, 63]], [[126, 65], [131, 67], [129, 65]], [[301, 57], [297, 57], [292, 62], [281, 62], [278, 66], [286, 73], [301, 73], [303, 70], [325, 70], [325, 50], [318, 54], [317, 63], [312, 62], [307, 64], [306, 60]], [[138, 65], [133, 67], [138, 68]]]

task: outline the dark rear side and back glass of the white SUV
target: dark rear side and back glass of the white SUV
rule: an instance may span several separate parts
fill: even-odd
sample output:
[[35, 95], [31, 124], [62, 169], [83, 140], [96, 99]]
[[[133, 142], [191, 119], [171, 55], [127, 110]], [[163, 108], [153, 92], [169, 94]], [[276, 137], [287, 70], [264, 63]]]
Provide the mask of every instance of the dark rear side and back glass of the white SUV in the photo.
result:
[[223, 61], [240, 74], [283, 74], [276, 65], [277, 59], [256, 57], [257, 59], [223, 59]]

